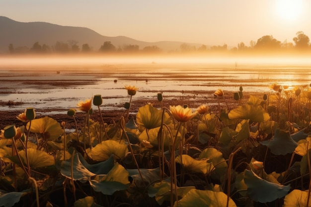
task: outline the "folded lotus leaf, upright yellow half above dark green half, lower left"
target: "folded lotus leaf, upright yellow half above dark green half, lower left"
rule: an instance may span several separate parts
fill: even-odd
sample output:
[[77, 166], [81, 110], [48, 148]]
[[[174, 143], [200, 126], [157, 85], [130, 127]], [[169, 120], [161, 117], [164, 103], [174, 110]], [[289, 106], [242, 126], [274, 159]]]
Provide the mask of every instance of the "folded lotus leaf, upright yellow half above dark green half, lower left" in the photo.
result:
[[130, 184], [128, 176], [128, 171], [122, 165], [116, 163], [102, 179], [99, 181], [89, 180], [89, 183], [94, 191], [101, 192], [104, 195], [112, 195], [116, 191], [128, 189]]

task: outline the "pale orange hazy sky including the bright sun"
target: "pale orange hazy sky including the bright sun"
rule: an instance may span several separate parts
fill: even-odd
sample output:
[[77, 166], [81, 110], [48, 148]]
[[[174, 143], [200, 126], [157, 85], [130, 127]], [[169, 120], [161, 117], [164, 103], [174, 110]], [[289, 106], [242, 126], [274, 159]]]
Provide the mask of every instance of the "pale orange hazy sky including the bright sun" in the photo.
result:
[[249, 45], [264, 35], [311, 37], [311, 0], [0, 0], [0, 15], [88, 27], [104, 36]]

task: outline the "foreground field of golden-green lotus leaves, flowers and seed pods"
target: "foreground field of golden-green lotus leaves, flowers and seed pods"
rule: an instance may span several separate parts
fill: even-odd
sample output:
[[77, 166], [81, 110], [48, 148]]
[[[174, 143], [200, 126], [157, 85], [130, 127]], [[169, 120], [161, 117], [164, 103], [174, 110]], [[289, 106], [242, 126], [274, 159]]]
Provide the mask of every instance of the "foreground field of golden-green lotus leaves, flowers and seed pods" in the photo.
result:
[[274, 83], [247, 100], [242, 86], [231, 100], [217, 89], [218, 104], [197, 109], [164, 107], [158, 93], [161, 107], [135, 115], [139, 88], [125, 90], [118, 122], [104, 122], [101, 95], [68, 110], [76, 129], [17, 114], [0, 134], [0, 206], [311, 206], [311, 85]]

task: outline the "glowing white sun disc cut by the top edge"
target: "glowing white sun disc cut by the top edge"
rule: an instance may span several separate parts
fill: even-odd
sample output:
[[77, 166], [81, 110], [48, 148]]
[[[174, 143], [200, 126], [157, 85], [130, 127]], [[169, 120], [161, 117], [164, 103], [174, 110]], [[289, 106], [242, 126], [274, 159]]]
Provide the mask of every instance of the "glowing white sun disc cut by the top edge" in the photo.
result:
[[276, 11], [282, 20], [296, 21], [303, 11], [303, 0], [276, 0]]

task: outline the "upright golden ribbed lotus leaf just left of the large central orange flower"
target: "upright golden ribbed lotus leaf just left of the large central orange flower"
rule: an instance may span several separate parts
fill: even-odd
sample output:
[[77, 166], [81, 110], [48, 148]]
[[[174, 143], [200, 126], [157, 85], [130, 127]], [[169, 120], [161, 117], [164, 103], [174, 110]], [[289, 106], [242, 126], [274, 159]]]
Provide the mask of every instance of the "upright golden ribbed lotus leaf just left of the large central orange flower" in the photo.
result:
[[150, 104], [139, 108], [136, 115], [139, 130], [143, 132], [144, 129], [154, 129], [160, 127], [161, 124], [169, 125], [172, 123], [171, 118], [166, 112], [163, 114], [162, 123], [162, 114], [162, 110], [158, 110]]

